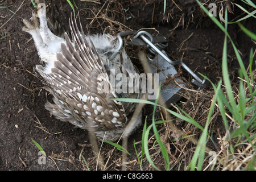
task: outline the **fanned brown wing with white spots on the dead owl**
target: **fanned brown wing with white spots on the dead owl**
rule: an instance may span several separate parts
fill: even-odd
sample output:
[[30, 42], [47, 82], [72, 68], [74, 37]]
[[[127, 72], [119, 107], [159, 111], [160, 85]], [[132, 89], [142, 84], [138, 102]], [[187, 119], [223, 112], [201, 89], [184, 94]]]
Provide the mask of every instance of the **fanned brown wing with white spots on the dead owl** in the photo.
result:
[[75, 116], [88, 130], [123, 127], [125, 110], [121, 102], [108, 100], [117, 96], [93, 42], [90, 47], [76, 20], [69, 20], [69, 26], [73, 43], [65, 34], [66, 43], [57, 52], [51, 73], [39, 72], [55, 96], [53, 101], [59, 103], [61, 113]]

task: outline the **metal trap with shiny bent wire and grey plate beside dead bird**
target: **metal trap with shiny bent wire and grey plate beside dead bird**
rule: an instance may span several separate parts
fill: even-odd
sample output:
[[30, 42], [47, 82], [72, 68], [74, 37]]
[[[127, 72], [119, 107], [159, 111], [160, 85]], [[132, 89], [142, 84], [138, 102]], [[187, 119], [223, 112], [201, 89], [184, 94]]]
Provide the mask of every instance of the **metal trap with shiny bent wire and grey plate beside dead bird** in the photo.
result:
[[[123, 46], [122, 37], [127, 35], [134, 35], [127, 44], [133, 46], [146, 46], [151, 54], [156, 55], [154, 59], [147, 57], [150, 62], [151, 73], [158, 73], [159, 84], [161, 84], [160, 93], [162, 99], [159, 100], [159, 105], [166, 105], [170, 107], [171, 103], [175, 103], [180, 100], [181, 93], [185, 87], [184, 82], [177, 77], [177, 71], [174, 65], [179, 64], [193, 77], [192, 83], [199, 86], [199, 88], [205, 87], [205, 78], [201, 80], [185, 63], [182, 61], [172, 61], [167, 53], [163, 50], [168, 46], [168, 40], [164, 36], [152, 36], [146, 31], [129, 31], [121, 32], [117, 34], [119, 40], [119, 49]], [[116, 53], [113, 53], [114, 57]], [[150, 100], [155, 102], [155, 100]]]

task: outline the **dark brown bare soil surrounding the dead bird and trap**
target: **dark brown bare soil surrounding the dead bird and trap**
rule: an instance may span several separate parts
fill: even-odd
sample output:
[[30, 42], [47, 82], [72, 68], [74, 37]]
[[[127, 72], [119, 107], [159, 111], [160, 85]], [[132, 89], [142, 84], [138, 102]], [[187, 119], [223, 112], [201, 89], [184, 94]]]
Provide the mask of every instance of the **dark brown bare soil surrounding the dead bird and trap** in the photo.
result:
[[[182, 59], [193, 71], [203, 73], [216, 83], [222, 77], [221, 56], [224, 33], [200, 10], [195, 1], [176, 0], [175, 2], [176, 5], [174, 1], [167, 1], [166, 13], [163, 15], [164, 6], [163, 1], [160, 0], [120, 0], [106, 3], [100, 1], [100, 4], [75, 1], [80, 10], [83, 27], [91, 22], [105, 3], [101, 13], [98, 14], [101, 18], [89, 26], [90, 33], [106, 31], [116, 34], [117, 32], [113, 30], [117, 28], [123, 31], [129, 28], [132, 30], [155, 28], [160, 35], [170, 40], [167, 52], [171, 59]], [[67, 26], [71, 7], [66, 1], [53, 1], [53, 3], [59, 7], [61, 19]], [[39, 57], [31, 36], [22, 31], [22, 19], [29, 19], [34, 10], [31, 1], [1, 1], [0, 4], [0, 6], [9, 7], [0, 10], [0, 169], [86, 169], [81, 155], [84, 156], [90, 169], [96, 169], [96, 157], [90, 147], [88, 133], [75, 128], [70, 123], [60, 122], [44, 109], [44, 104], [47, 100], [51, 100], [51, 96], [42, 89], [43, 84], [33, 75], [33, 68], [39, 64]], [[217, 5], [219, 7], [220, 3]], [[125, 11], [128, 7], [129, 10]], [[18, 11], [13, 15], [10, 10]], [[234, 15], [229, 14], [230, 19], [241, 14], [236, 7], [233, 12]], [[243, 24], [249, 30], [256, 32], [253, 19], [247, 19]], [[113, 27], [108, 27], [109, 25]], [[239, 27], [235, 24], [229, 26], [229, 32], [247, 67], [249, 51], [254, 46], [253, 42], [239, 31]], [[127, 50], [131, 55], [135, 55], [133, 57], [137, 56], [134, 53], [136, 48], [129, 47]], [[232, 81], [236, 82], [238, 63], [231, 47], [228, 53]], [[136, 59], [133, 58], [133, 61]], [[186, 71], [180, 69], [179, 73], [185, 80], [191, 81]], [[141, 135], [142, 128], [129, 139], [129, 152], [133, 155], [128, 161], [135, 160], [134, 164], [128, 168], [129, 170], [139, 170], [133, 141], [140, 141]], [[38, 142], [46, 152], [46, 164], [38, 163], [39, 150], [32, 139]], [[113, 146], [109, 144], [103, 144], [102, 156], [106, 160], [112, 148]], [[112, 155], [108, 169], [120, 170], [122, 152], [118, 150], [114, 152], [115, 155]]]

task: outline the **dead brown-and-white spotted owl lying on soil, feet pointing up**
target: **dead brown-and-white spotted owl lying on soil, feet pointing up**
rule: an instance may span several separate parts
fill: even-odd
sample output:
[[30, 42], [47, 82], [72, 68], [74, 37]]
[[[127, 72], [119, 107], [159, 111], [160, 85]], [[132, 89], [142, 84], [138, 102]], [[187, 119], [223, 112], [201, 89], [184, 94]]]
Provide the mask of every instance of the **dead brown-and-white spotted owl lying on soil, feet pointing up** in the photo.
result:
[[[116, 36], [85, 35], [72, 18], [69, 20], [72, 41], [66, 33], [64, 38], [54, 35], [47, 26], [46, 6], [37, 3], [38, 11], [32, 15], [32, 23], [23, 19], [23, 31], [34, 39], [43, 63], [36, 65], [35, 72], [53, 95], [54, 104], [47, 102], [46, 109], [61, 121], [93, 131], [100, 140], [119, 139], [136, 104], [108, 99], [143, 96], [141, 93], [117, 93], [110, 83], [113, 69], [115, 74], [126, 76], [137, 73], [125, 49], [118, 50]], [[108, 92], [100, 88], [107, 88]], [[141, 123], [141, 116], [137, 117], [133, 129]]]

